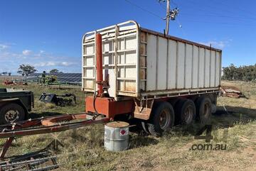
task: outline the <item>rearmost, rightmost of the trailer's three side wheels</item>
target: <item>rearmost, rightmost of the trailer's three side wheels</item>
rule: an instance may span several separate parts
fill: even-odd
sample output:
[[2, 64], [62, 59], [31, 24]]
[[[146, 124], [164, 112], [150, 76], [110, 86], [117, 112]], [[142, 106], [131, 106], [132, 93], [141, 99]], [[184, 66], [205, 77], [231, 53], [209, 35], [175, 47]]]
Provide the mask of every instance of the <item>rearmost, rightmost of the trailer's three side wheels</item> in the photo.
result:
[[209, 123], [212, 113], [211, 101], [208, 97], [201, 96], [196, 100], [196, 116], [201, 123]]

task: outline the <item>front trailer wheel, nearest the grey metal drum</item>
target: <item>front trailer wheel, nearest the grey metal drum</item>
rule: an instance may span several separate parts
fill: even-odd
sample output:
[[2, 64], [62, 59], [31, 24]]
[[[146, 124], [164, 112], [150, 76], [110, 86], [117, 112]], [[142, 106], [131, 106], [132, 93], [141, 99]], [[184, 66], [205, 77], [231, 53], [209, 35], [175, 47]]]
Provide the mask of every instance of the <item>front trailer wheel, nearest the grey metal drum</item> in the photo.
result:
[[164, 131], [174, 126], [174, 108], [168, 102], [161, 102], [152, 111], [151, 121], [147, 124], [149, 133], [153, 136], [162, 136]]

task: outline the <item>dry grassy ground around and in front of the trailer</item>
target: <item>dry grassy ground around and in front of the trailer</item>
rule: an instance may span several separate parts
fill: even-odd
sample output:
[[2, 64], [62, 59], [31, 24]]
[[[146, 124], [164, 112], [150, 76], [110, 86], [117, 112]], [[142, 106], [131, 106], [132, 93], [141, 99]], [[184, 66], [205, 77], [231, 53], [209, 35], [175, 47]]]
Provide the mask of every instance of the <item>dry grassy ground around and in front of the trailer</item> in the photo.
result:
[[[18, 138], [7, 155], [28, 153], [44, 148], [51, 140], [58, 139], [65, 147], [60, 148], [58, 170], [254, 170], [256, 167], [256, 84], [245, 82], [223, 82], [238, 85], [250, 96], [249, 99], [221, 97], [218, 100], [218, 113], [213, 115], [213, 144], [226, 143], [225, 151], [189, 150], [195, 140], [195, 129], [176, 127], [161, 138], [130, 135], [129, 150], [119, 153], [108, 152], [103, 148], [103, 125], [88, 126], [61, 133], [26, 136]], [[80, 88], [53, 89], [30, 84], [35, 93], [36, 106], [32, 116], [78, 113], [85, 111], [85, 94]], [[63, 94], [72, 92], [78, 96], [76, 106], [46, 106], [37, 101], [42, 92]], [[228, 109], [228, 113], [223, 109]], [[223, 139], [224, 130], [228, 131]], [[1, 144], [4, 140], [1, 140]]]

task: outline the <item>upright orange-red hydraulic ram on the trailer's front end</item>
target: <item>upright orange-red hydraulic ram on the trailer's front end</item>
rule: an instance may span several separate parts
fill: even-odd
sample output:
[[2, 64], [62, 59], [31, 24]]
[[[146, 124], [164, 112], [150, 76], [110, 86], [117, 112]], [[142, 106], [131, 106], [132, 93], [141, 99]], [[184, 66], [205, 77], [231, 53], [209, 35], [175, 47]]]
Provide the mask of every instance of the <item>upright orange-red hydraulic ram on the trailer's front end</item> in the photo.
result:
[[97, 89], [99, 96], [103, 93], [103, 73], [102, 73], [102, 35], [100, 33], [96, 34], [96, 67], [97, 67]]

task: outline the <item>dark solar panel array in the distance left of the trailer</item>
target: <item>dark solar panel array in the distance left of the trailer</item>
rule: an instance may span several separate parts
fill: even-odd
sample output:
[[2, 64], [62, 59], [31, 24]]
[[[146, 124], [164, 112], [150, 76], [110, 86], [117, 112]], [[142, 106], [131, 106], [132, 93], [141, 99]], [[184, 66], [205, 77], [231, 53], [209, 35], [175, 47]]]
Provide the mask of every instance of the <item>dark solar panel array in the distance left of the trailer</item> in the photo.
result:
[[[33, 73], [28, 75], [27, 80], [31, 82], [37, 82], [38, 77], [41, 77], [42, 73]], [[46, 74], [51, 75], [51, 74]], [[70, 84], [81, 84], [82, 74], [81, 73], [55, 73], [53, 74], [57, 77], [57, 82], [60, 83], [70, 83]]]

